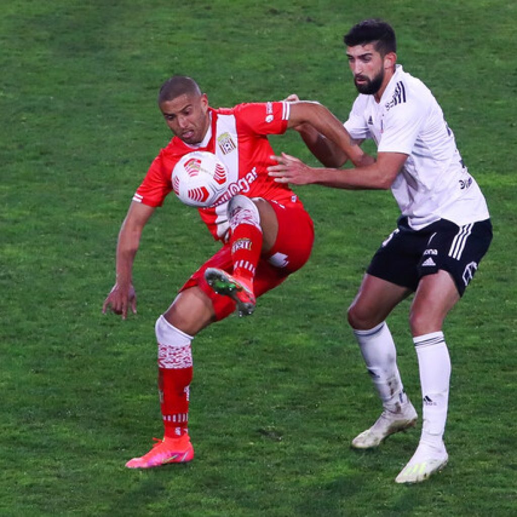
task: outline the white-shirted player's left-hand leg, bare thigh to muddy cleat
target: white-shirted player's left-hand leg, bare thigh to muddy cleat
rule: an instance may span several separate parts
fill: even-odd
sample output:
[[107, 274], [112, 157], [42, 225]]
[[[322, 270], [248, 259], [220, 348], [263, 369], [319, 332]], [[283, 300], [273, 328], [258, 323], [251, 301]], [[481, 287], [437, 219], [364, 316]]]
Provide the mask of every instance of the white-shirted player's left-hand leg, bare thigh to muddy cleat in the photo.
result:
[[404, 392], [397, 351], [385, 318], [408, 294], [404, 287], [365, 275], [348, 309], [348, 322], [359, 344], [366, 368], [383, 404], [375, 423], [352, 440], [352, 447], [377, 447], [393, 433], [413, 427], [417, 413]]

